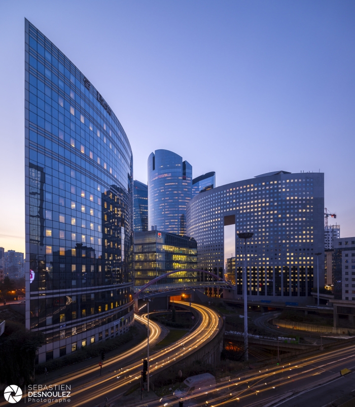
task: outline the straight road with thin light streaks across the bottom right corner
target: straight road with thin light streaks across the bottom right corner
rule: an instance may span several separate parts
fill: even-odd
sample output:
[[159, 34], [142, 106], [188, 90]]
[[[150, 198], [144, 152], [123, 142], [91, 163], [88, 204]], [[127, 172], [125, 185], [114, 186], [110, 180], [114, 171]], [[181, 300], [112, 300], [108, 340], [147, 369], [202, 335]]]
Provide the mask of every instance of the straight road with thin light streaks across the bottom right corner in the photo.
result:
[[[215, 392], [206, 392], [196, 397], [189, 396], [184, 400], [184, 407], [206, 405], [211, 407], [234, 405], [240, 407], [271, 407], [274, 405], [301, 407], [302, 394], [312, 387], [322, 386], [327, 382], [335, 383], [336, 387], [341, 387], [347, 382], [350, 383], [349, 386], [355, 384], [351, 374], [345, 377], [347, 382], [345, 378], [340, 377], [340, 369], [343, 368], [355, 369], [355, 346], [241, 374], [225, 383], [218, 384]], [[329, 386], [333, 386], [332, 383]], [[349, 393], [353, 388], [348, 390]], [[327, 392], [327, 385], [323, 387], [323, 392]], [[300, 394], [300, 401], [298, 401], [297, 394]], [[334, 394], [336, 394], [335, 391]], [[329, 398], [331, 397], [328, 397], [328, 400]], [[164, 397], [161, 401], [146, 402], [145, 405], [170, 407], [177, 405], [177, 401], [176, 397], [169, 396]], [[323, 401], [321, 398], [318, 401], [315, 399], [311, 405], [322, 407], [325, 405]], [[303, 398], [303, 405], [304, 403], [305, 398]], [[143, 407], [143, 405], [138, 404], [137, 407]]]

